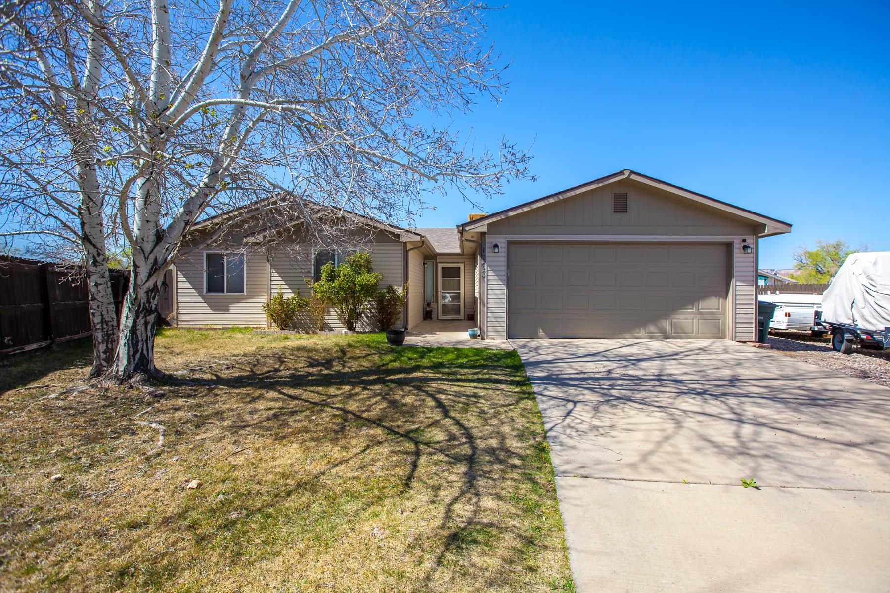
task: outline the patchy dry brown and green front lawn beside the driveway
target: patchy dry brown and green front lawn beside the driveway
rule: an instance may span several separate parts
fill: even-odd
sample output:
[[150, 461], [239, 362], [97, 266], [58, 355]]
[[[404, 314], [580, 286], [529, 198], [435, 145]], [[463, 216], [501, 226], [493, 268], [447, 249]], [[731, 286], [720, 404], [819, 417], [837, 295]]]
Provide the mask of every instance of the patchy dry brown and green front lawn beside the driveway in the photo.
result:
[[88, 344], [0, 367], [0, 589], [573, 590], [514, 352], [157, 344], [182, 382], [153, 394], [52, 397], [85, 377]]

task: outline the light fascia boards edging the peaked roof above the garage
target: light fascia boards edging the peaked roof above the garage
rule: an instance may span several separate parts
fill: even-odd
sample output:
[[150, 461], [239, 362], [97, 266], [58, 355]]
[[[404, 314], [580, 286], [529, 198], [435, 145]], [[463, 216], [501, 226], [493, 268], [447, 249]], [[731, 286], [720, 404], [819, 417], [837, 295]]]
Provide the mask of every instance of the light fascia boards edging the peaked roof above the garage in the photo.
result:
[[599, 179], [587, 181], [587, 183], [582, 183], [581, 185], [575, 186], [574, 188], [563, 189], [562, 191], [550, 194], [549, 196], [539, 197], [538, 199], [531, 200], [530, 202], [526, 202], [525, 204], [518, 204], [513, 207], [506, 208], [505, 210], [501, 210], [500, 212], [494, 212], [489, 214], [488, 216], [483, 216], [476, 220], [470, 220], [460, 225], [460, 228], [461, 230], [465, 231], [481, 230], [484, 229], [485, 226], [490, 222], [502, 220], [514, 214], [518, 214], [519, 212], [526, 212], [533, 208], [538, 208], [539, 206], [553, 204], [554, 202], [565, 199], [567, 197], [577, 196], [578, 194], [589, 189], [599, 188], [620, 180], [638, 181], [654, 188], [663, 189], [667, 192], [675, 194], [676, 196], [684, 197], [691, 200], [692, 202], [705, 204], [718, 210], [734, 214], [743, 219], [763, 224], [766, 227], [765, 232], [761, 233], [759, 236], [780, 235], [781, 233], [788, 233], [791, 230], [791, 224], [789, 222], [773, 219], [765, 216], [764, 214], [759, 214], [745, 208], [740, 208], [739, 206], [723, 202], [710, 196], [705, 196], [704, 194], [694, 192], [690, 189], [681, 188], [680, 186], [676, 186], [672, 183], [667, 183], [667, 181], [658, 180], [654, 177], [649, 177], [648, 175], [643, 175], [643, 173], [635, 172], [630, 169], [624, 169], [623, 171], [614, 172]]

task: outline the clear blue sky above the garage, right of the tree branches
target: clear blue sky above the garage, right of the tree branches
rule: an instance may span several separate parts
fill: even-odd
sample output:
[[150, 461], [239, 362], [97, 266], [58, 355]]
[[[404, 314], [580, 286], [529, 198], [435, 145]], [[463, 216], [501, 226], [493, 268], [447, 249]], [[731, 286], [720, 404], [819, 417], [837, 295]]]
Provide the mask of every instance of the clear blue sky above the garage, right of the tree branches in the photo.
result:
[[[763, 268], [817, 239], [890, 251], [890, 3], [738, 4], [490, 13], [510, 88], [454, 126], [477, 146], [534, 142], [538, 181], [485, 210], [630, 168], [793, 223], [761, 243]], [[418, 226], [476, 210], [434, 204]]]

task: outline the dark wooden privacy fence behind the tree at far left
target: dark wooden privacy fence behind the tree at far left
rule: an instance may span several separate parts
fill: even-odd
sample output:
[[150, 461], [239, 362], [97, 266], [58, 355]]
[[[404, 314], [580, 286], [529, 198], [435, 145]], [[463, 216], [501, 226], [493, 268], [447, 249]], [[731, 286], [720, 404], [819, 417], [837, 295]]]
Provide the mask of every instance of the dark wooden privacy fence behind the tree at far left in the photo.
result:
[[[129, 276], [111, 270], [111, 288], [120, 311]], [[60, 264], [20, 258], [0, 260], [0, 357], [91, 333], [86, 279]]]

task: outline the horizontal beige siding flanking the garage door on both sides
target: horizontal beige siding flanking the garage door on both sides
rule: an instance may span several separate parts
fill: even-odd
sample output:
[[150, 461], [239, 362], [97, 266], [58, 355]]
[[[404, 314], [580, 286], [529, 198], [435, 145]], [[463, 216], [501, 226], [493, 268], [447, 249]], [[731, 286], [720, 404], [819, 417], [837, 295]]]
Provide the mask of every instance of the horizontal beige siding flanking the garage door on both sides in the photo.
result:
[[[746, 238], [748, 243], [754, 241], [753, 235], [745, 236], [702, 236], [701, 241], [721, 240], [732, 244], [732, 270], [734, 276], [732, 280], [732, 296], [731, 307], [732, 328], [728, 335], [732, 336], [736, 341], [754, 341], [756, 339], [756, 256], [754, 253], [743, 253], [741, 251], [741, 239]], [[484, 317], [484, 332], [488, 340], [506, 340], [506, 293], [507, 293], [507, 252], [509, 250], [509, 241], [520, 241], [530, 239], [545, 239], [554, 237], [543, 236], [506, 236], [494, 235], [487, 233], [485, 238], [486, 249], [486, 274], [485, 274], [485, 295], [486, 315]], [[561, 236], [564, 240], [564, 236]], [[591, 240], [594, 237], [589, 237]], [[621, 237], [623, 240], [640, 241], [652, 240], [660, 237], [637, 236], [637, 237]], [[676, 237], [677, 239], [696, 240], [696, 237]], [[555, 240], [555, 238], [554, 238]], [[613, 241], [613, 238], [603, 236], [602, 241]], [[498, 244], [500, 252], [492, 252], [492, 245]]]

